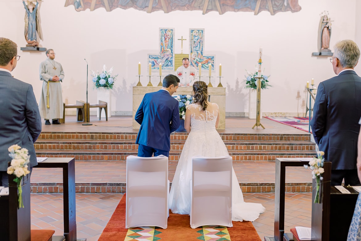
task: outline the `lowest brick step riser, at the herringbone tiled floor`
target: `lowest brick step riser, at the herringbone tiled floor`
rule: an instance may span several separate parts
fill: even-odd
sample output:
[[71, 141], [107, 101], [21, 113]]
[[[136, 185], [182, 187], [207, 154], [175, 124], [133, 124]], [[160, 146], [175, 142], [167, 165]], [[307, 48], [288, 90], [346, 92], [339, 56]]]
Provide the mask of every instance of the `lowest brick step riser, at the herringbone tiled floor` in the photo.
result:
[[[274, 193], [274, 182], [240, 182], [243, 193]], [[32, 193], [63, 193], [62, 182], [31, 182]], [[286, 193], [310, 193], [312, 182], [286, 183]], [[75, 183], [76, 193], [126, 193], [125, 182], [84, 182]]]

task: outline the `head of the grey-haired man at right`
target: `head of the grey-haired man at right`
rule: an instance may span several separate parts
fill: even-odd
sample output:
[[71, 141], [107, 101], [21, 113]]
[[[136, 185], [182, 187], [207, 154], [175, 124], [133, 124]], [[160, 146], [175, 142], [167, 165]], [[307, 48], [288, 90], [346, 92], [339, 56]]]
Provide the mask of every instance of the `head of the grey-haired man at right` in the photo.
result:
[[341, 40], [334, 46], [334, 56], [339, 59], [343, 68], [353, 68], [360, 59], [360, 49], [352, 40]]

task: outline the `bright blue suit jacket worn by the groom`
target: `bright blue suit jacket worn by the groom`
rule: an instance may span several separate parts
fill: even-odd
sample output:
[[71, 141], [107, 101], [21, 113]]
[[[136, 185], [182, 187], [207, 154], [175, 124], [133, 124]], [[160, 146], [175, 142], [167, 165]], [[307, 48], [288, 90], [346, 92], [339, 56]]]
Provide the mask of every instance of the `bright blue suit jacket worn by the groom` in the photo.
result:
[[179, 127], [179, 102], [166, 90], [147, 93], [135, 114], [140, 129], [135, 143], [170, 150], [170, 133]]

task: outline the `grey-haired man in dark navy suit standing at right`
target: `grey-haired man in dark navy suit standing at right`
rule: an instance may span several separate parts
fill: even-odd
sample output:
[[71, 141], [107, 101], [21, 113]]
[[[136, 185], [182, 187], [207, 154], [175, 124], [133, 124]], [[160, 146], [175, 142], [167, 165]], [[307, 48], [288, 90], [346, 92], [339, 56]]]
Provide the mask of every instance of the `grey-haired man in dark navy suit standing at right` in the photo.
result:
[[352, 40], [335, 45], [330, 59], [337, 76], [321, 82], [313, 107], [311, 127], [325, 159], [332, 162], [331, 185], [360, 185], [357, 176], [357, 138], [361, 116], [361, 78], [353, 68], [360, 49]]

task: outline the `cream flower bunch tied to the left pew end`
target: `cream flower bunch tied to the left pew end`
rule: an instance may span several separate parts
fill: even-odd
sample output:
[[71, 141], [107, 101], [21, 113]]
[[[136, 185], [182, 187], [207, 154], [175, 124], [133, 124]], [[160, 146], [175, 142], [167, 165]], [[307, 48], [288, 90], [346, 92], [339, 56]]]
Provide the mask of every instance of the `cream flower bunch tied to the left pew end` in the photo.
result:
[[22, 187], [21, 179], [30, 173], [27, 169], [27, 164], [30, 162], [29, 151], [25, 148], [21, 148], [19, 145], [12, 145], [8, 148], [10, 152], [9, 156], [12, 158], [10, 167], [8, 167], [7, 173], [15, 175], [14, 182], [18, 187], [18, 208], [24, 207], [22, 201]]

